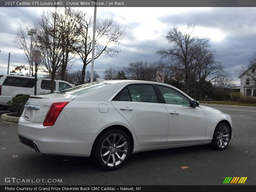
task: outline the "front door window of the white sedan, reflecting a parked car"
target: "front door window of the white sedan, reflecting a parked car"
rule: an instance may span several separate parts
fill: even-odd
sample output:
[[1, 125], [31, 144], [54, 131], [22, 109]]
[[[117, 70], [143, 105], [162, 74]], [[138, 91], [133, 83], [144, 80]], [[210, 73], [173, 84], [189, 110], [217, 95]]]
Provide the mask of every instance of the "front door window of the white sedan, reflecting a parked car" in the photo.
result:
[[188, 98], [186, 98], [179, 92], [163, 86], [158, 86], [158, 88], [163, 95], [166, 104], [190, 106]]

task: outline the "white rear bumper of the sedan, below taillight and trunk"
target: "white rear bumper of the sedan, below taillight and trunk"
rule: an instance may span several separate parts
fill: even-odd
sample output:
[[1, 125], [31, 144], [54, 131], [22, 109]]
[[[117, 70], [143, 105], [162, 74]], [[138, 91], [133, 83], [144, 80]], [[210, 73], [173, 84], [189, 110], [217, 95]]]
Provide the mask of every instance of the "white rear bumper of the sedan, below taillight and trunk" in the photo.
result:
[[47, 155], [84, 156], [91, 155], [97, 134], [53, 132], [52, 126], [31, 123], [20, 117], [18, 125], [20, 142]]

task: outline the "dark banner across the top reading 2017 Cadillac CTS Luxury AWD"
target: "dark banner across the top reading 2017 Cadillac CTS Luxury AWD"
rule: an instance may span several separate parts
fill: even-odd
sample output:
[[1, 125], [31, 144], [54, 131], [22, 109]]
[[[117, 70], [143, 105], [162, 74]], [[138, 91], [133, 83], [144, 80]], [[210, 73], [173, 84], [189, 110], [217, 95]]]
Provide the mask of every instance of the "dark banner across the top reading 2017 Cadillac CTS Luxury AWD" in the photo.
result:
[[1, 0], [0, 7], [256, 7], [255, 0]]

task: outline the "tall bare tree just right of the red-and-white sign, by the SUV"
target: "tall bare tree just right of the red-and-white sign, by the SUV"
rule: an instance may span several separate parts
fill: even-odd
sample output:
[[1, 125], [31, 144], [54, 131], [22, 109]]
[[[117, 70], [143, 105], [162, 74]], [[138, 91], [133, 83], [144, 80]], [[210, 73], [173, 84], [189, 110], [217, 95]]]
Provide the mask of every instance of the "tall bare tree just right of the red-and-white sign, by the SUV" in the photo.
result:
[[79, 22], [71, 17], [76, 14], [69, 8], [64, 8], [64, 13], [61, 11], [58, 7], [55, 7], [54, 11], [44, 11], [34, 24], [37, 29], [36, 47], [41, 51], [40, 70], [51, 78], [51, 92], [59, 68], [62, 68], [63, 79], [68, 61], [74, 57], [70, 56], [69, 52], [72, 52], [71, 47], [78, 35], [78, 32], [72, 29]]

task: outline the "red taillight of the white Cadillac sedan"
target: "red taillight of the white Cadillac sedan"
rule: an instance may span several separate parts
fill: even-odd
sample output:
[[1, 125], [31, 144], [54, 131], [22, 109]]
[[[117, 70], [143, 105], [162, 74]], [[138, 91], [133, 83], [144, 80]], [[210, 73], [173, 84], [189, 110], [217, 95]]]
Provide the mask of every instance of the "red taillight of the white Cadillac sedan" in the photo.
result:
[[58, 116], [62, 109], [68, 104], [69, 102], [53, 102], [51, 107], [49, 108], [46, 117], [44, 119], [44, 126], [52, 126], [55, 124]]

